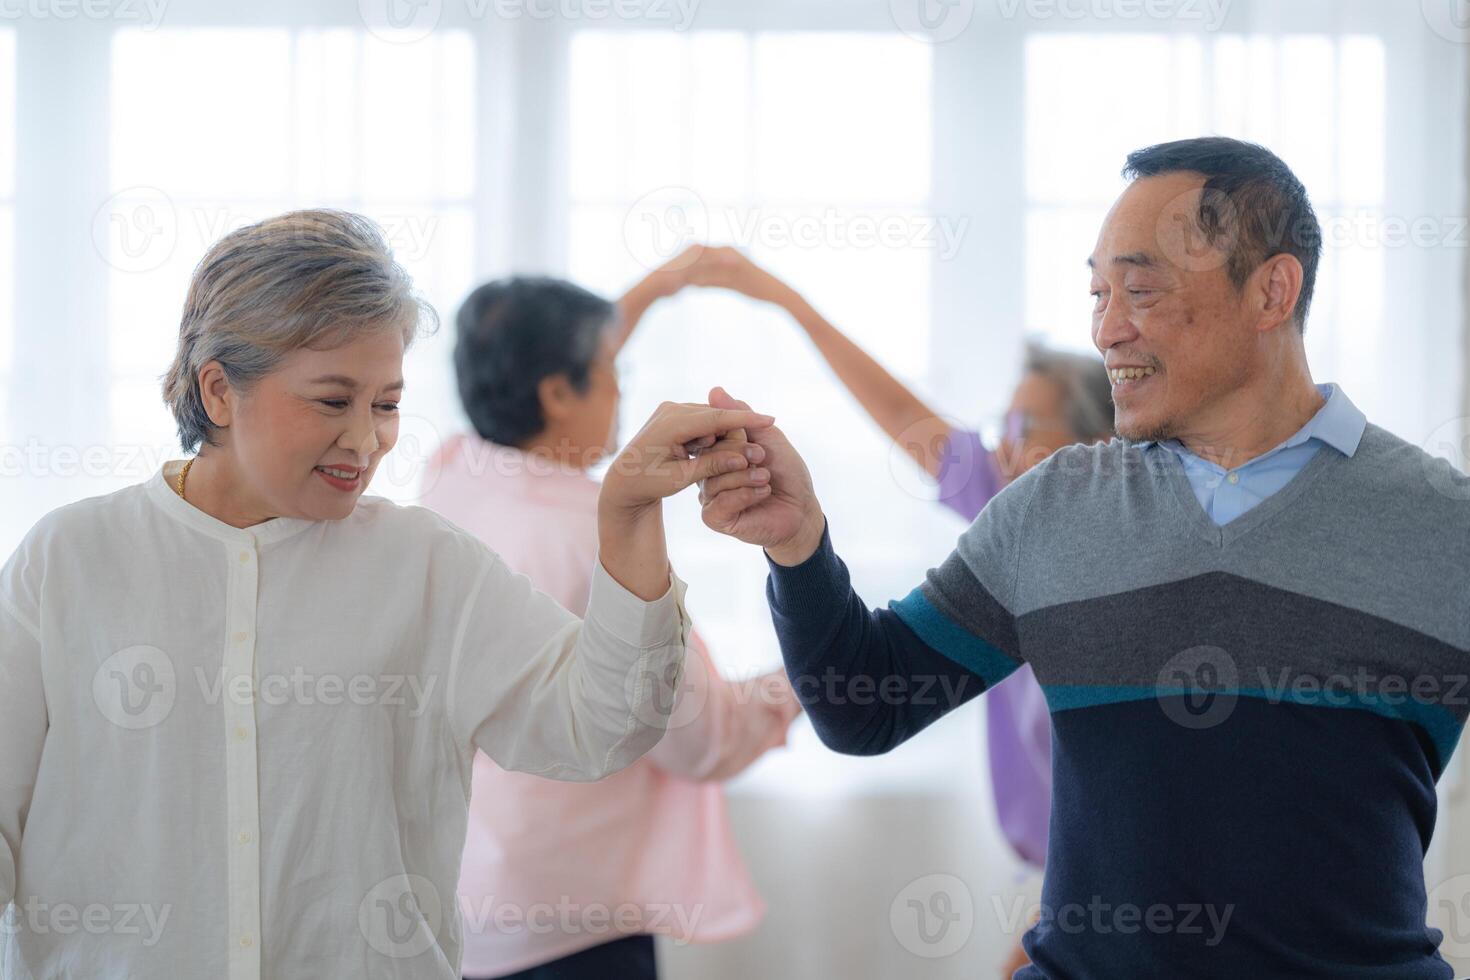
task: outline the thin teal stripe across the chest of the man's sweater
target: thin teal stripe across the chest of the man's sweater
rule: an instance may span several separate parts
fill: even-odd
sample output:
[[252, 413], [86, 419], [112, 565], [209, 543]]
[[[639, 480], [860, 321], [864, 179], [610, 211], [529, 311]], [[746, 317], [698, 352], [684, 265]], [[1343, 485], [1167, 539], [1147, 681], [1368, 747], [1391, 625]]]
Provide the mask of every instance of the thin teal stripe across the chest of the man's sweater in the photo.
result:
[[[1139, 686], [1082, 686], [1082, 685], [1042, 685], [1047, 695], [1047, 705], [1051, 711], [1067, 711], [1072, 708], [1092, 708], [1104, 704], [1122, 704], [1125, 701], [1148, 701], [1152, 698], [1170, 698], [1180, 695], [1201, 695], [1198, 688], [1139, 688]], [[1264, 688], [1222, 688], [1216, 693], [1236, 695], [1239, 698], [1258, 698], [1273, 704], [1288, 702], [1314, 708], [1349, 708], [1372, 711], [1395, 721], [1408, 721], [1421, 727], [1435, 743], [1439, 752], [1441, 765], [1449, 764], [1449, 755], [1460, 741], [1460, 730], [1464, 727], [1449, 708], [1441, 704], [1426, 704], [1408, 695], [1392, 696], [1385, 701], [1383, 695], [1347, 695], [1341, 691], [1266, 691]]]

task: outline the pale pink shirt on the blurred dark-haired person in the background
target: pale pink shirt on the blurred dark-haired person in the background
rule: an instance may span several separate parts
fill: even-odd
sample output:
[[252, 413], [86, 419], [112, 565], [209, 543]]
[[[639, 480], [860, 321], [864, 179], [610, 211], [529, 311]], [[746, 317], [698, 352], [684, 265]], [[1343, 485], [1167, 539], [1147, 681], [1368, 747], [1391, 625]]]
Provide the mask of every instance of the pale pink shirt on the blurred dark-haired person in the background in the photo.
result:
[[[467, 433], [429, 464], [422, 502], [581, 616], [598, 488], [582, 472]], [[476, 754], [459, 886], [462, 973], [514, 973], [631, 933], [713, 942], [753, 930], [766, 908], [719, 780], [785, 745], [798, 710], [785, 673], [726, 682], [694, 633], [667, 735], [623, 771], [557, 782]]]

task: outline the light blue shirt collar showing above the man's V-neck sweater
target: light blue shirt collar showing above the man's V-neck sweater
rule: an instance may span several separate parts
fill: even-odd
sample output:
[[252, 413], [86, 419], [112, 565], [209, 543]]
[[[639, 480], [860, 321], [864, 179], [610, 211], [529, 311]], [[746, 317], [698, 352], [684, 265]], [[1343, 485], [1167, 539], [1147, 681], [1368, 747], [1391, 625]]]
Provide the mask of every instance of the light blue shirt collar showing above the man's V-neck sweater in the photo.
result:
[[[1344, 455], [1352, 455], [1358, 451], [1358, 442], [1369, 423], [1367, 416], [1348, 401], [1348, 397], [1336, 385], [1317, 385], [1317, 391], [1327, 400], [1327, 404], [1319, 408], [1307, 425], [1270, 453], [1233, 470], [1225, 470], [1208, 460], [1201, 460], [1179, 439], [1166, 439], [1158, 444], [1172, 450], [1183, 463], [1189, 485], [1194, 486], [1195, 497], [1200, 498], [1200, 505], [1216, 525], [1230, 523], [1286, 486], [1323, 444]], [[1138, 442], [1141, 450], [1150, 445], [1154, 445], [1151, 439]]]

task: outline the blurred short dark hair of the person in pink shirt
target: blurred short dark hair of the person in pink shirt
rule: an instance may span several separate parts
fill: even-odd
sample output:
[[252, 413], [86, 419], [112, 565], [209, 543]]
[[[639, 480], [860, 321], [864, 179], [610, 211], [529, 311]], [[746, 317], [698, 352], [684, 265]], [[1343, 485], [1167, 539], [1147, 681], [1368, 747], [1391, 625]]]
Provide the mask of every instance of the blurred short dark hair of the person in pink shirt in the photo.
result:
[[587, 391], [588, 372], [617, 307], [563, 279], [488, 282], [454, 314], [454, 375], [481, 438], [519, 447], [545, 428], [537, 385], [566, 375]]

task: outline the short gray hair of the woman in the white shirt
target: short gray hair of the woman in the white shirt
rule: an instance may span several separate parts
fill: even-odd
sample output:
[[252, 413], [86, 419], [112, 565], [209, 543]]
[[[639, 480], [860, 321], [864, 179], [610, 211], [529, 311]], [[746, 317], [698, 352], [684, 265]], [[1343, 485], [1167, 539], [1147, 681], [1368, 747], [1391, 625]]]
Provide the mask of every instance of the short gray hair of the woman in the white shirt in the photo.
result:
[[331, 209], [288, 212], [216, 241], [194, 267], [163, 401], [179, 444], [218, 445], [198, 373], [219, 361], [248, 391], [294, 350], [331, 350], [370, 331], [397, 329], [407, 350], [434, 307], [392, 257], [370, 219]]

